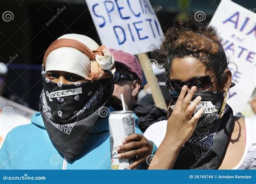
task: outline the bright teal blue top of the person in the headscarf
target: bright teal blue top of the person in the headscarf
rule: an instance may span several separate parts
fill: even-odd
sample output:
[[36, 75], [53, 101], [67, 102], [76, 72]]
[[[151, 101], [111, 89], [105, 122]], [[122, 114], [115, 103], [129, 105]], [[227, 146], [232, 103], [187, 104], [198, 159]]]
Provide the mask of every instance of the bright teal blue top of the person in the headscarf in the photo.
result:
[[[134, 116], [135, 132], [142, 134], [138, 117]], [[83, 155], [73, 163], [66, 163], [52, 145], [39, 112], [30, 124], [9, 132], [0, 150], [0, 169], [63, 169], [65, 164], [66, 169], [111, 169], [108, 118], [97, 120], [86, 139]]]

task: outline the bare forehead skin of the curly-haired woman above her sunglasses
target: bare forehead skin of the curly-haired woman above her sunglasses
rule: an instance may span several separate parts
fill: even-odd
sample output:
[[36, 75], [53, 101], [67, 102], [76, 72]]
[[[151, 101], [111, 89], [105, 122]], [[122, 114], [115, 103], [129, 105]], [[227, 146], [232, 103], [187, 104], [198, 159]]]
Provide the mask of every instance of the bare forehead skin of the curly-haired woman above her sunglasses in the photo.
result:
[[[206, 66], [194, 57], [174, 58], [170, 71], [170, 79], [188, 81], [193, 77], [213, 76], [214, 72], [206, 69]], [[217, 86], [213, 83], [213, 87], [208, 91], [217, 91]]]

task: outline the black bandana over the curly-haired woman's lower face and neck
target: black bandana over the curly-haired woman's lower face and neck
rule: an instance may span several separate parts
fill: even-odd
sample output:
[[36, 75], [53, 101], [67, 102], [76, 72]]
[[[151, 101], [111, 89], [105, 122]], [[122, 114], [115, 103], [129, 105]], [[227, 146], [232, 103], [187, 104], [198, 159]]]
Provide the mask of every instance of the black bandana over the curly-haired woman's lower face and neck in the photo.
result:
[[[223, 92], [195, 93], [201, 96], [205, 113], [198, 120], [191, 138], [181, 147], [173, 169], [217, 169], [224, 159], [233, 131], [233, 111], [225, 105], [224, 115], [218, 114], [224, 99]], [[176, 101], [178, 96], [173, 96]]]

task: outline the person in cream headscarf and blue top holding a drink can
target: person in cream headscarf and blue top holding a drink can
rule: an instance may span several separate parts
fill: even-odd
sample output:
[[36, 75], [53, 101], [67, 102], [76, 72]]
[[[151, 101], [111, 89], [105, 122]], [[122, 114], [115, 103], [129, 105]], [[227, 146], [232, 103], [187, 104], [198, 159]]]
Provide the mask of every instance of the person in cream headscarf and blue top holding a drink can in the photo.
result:
[[[0, 168], [110, 169], [108, 116], [122, 106], [118, 100], [112, 103], [114, 72], [114, 58], [104, 45], [77, 34], [55, 40], [43, 58], [40, 112], [31, 124], [7, 135]], [[135, 141], [139, 147], [125, 147], [137, 153], [132, 156], [151, 155], [153, 143], [141, 135], [137, 122], [136, 117], [138, 134], [132, 136], [137, 139], [125, 143]], [[131, 157], [122, 151], [123, 158]], [[137, 160], [131, 168], [142, 162]]]

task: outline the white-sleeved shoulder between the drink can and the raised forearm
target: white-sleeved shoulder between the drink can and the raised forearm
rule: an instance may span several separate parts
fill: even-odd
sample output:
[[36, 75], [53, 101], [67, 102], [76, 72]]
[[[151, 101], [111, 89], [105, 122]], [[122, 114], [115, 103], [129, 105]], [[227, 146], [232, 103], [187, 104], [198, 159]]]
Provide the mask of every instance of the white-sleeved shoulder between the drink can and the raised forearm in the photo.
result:
[[147, 128], [144, 136], [159, 146], [165, 137], [166, 127], [167, 120], [155, 122], [154, 124], [150, 125], [149, 128]]

